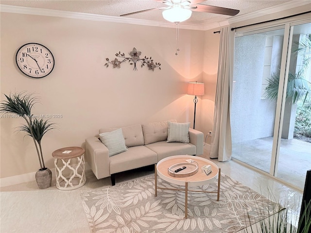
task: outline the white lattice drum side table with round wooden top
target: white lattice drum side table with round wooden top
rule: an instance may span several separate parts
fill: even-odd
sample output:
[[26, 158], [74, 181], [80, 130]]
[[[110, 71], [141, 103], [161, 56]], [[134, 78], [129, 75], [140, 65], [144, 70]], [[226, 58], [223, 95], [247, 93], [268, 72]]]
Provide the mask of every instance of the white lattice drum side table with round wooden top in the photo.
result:
[[72, 190], [86, 183], [85, 149], [66, 147], [52, 153], [56, 171], [56, 188]]

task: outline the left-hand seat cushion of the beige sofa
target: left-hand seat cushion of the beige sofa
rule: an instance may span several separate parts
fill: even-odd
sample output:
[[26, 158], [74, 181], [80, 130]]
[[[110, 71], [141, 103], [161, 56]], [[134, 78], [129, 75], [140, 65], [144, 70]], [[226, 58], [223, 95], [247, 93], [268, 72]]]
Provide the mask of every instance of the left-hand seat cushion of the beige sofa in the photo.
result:
[[157, 155], [145, 146], [130, 147], [110, 158], [110, 174], [157, 163]]

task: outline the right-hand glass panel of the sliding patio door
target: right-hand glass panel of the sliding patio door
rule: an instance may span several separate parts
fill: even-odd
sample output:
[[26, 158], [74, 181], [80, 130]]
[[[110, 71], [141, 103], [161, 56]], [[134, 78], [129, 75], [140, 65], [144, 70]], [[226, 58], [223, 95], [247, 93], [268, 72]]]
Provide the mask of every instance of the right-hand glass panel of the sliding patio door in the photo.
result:
[[288, 57], [275, 176], [302, 189], [311, 169], [311, 23], [291, 28]]

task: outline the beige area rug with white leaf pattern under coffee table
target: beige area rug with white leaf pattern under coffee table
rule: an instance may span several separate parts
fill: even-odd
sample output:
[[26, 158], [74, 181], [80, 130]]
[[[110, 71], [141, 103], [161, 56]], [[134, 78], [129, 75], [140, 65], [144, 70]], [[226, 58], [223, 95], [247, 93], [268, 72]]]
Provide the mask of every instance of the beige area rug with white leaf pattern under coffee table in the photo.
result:
[[[159, 177], [157, 184], [180, 187]], [[191, 189], [217, 192], [217, 181]], [[154, 176], [86, 191], [80, 198], [92, 233], [235, 233], [282, 209], [224, 174], [220, 201], [217, 193], [188, 193], [187, 219], [185, 192], [158, 189], [155, 197]]]

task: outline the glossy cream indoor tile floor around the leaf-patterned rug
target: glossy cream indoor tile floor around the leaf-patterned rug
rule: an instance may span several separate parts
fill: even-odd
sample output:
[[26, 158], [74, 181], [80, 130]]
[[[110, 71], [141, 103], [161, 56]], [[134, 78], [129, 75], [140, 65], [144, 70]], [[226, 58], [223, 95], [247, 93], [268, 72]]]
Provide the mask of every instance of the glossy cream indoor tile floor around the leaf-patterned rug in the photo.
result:
[[[207, 158], [205, 155], [201, 157]], [[218, 162], [225, 175], [230, 176], [264, 196], [285, 203], [299, 214], [302, 193], [275, 179], [242, 166], [235, 161]], [[116, 183], [154, 174], [153, 171], [136, 171], [116, 175]], [[35, 182], [2, 187], [0, 192], [1, 233], [89, 233], [86, 216], [79, 198], [85, 190], [110, 185], [110, 178], [97, 180], [92, 171], [86, 171], [86, 184], [70, 191], [58, 190], [55, 181], [40, 190]]]

